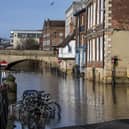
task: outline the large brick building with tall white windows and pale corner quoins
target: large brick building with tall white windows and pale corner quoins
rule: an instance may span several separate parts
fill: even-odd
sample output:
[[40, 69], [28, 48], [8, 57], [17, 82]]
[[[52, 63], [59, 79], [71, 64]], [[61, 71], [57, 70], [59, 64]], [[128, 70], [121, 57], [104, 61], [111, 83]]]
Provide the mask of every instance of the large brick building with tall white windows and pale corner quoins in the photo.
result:
[[[119, 59], [116, 66], [116, 78], [127, 78], [129, 2], [127, 0], [83, 0], [83, 2], [86, 6], [86, 31], [83, 36], [86, 44], [86, 78], [110, 83], [113, 57]], [[80, 46], [81, 41], [78, 43]], [[121, 79], [122, 81], [125, 79]]]

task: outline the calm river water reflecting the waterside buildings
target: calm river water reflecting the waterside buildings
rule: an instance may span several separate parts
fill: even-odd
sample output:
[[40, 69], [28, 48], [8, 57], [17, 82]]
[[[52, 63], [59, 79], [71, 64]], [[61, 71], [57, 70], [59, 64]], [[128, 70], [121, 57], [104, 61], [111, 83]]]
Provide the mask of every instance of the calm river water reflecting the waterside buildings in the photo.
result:
[[13, 72], [13, 75], [17, 100], [24, 90], [36, 89], [50, 93], [60, 104], [61, 120], [50, 123], [48, 129], [129, 118], [129, 85], [93, 84], [83, 78], [63, 78], [46, 70]]

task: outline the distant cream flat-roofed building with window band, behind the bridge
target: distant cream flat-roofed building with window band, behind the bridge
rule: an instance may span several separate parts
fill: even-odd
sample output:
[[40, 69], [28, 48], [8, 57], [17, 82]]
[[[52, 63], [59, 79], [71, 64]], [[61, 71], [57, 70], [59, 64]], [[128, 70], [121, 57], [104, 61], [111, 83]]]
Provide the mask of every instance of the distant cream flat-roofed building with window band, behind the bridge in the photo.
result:
[[12, 44], [15, 49], [23, 40], [29, 38], [34, 39], [39, 43], [41, 35], [41, 30], [12, 30], [10, 32], [10, 44]]

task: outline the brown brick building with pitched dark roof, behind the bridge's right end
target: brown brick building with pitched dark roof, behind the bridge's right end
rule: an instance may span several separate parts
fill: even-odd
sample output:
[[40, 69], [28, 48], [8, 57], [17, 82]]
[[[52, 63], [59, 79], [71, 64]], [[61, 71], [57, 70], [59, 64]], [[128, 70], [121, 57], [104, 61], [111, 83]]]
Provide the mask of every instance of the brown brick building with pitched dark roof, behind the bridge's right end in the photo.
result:
[[43, 50], [53, 50], [64, 40], [65, 21], [63, 20], [45, 20], [43, 25]]

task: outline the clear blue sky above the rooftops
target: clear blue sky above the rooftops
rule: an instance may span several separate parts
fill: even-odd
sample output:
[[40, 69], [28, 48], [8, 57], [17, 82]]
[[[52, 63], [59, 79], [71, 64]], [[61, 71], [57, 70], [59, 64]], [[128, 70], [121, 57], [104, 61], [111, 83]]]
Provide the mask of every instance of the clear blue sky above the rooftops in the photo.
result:
[[0, 37], [14, 29], [42, 29], [46, 19], [64, 20], [73, 0], [0, 0]]

